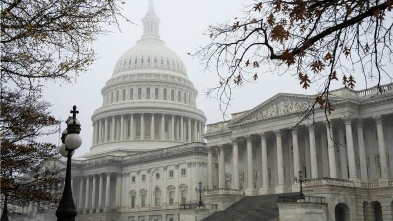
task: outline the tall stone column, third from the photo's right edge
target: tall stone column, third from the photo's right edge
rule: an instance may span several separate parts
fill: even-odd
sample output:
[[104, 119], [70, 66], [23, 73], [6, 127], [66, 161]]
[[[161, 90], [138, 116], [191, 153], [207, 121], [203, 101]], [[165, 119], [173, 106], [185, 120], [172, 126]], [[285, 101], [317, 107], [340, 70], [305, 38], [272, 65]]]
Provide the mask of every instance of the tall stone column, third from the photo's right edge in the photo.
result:
[[341, 118], [345, 124], [345, 135], [347, 138], [347, 153], [348, 153], [348, 166], [349, 166], [349, 179], [357, 180], [358, 176], [356, 174], [356, 158], [355, 149], [353, 146], [352, 138], [352, 120], [353, 118], [349, 115]]

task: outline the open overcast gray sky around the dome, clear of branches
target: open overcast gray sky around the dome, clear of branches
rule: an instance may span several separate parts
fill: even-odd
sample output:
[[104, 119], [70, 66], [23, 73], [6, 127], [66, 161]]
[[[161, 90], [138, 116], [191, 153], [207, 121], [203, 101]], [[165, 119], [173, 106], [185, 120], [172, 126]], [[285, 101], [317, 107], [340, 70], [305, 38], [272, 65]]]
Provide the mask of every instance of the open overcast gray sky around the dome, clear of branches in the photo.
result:
[[[233, 18], [242, 16], [242, 4], [250, 2], [252, 1], [154, 0], [156, 14], [161, 19], [161, 39], [183, 60], [188, 77], [199, 92], [197, 107], [207, 116], [207, 124], [223, 120], [218, 100], [206, 98], [203, 92], [207, 87], [216, 85], [218, 78], [215, 73], [201, 72], [203, 66], [186, 53], [194, 52], [198, 44], [208, 43], [209, 38], [202, 33], [209, 24], [233, 21]], [[111, 78], [117, 59], [140, 39], [141, 19], [147, 12], [147, 6], [147, 0], [126, 0], [126, 4], [122, 5], [123, 13], [137, 25], [120, 19], [121, 32], [115, 27], [108, 27], [113, 33], [100, 36], [93, 45], [100, 58], [91, 65], [87, 73], [81, 74], [72, 85], [60, 86], [59, 83], [46, 85], [44, 99], [53, 104], [51, 110], [55, 117], [66, 119], [73, 105], [77, 105], [80, 111], [78, 118], [82, 123], [83, 142], [75, 156], [89, 151], [92, 140], [90, 117], [93, 111], [102, 105], [101, 88]], [[259, 78], [261, 79], [261, 76]], [[359, 80], [356, 89], [363, 89], [364, 85], [364, 82]], [[335, 88], [339, 86], [339, 84], [334, 85]], [[244, 88], [235, 89], [228, 113], [251, 109], [280, 92], [314, 94], [315, 88], [302, 89], [297, 78], [290, 74], [285, 76], [266, 74], [263, 81], [249, 83]], [[62, 123], [61, 127], [63, 130], [65, 123]], [[58, 136], [44, 139], [58, 142]]]

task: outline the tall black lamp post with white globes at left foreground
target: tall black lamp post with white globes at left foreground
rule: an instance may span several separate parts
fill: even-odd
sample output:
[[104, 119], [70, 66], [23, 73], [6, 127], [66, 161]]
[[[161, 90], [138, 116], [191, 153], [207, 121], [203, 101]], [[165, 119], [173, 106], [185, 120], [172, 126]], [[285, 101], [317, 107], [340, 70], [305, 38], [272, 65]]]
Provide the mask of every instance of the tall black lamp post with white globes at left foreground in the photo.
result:
[[65, 173], [63, 195], [56, 209], [57, 221], [75, 221], [75, 217], [77, 216], [77, 208], [72, 198], [71, 157], [74, 154], [74, 150], [79, 148], [82, 144], [82, 138], [79, 135], [81, 132], [81, 123], [76, 118], [76, 114], [79, 113], [79, 111], [77, 111], [75, 105], [70, 113], [72, 113], [72, 117], [68, 117], [66, 121], [67, 129], [61, 134], [62, 144], [60, 146], [60, 154], [63, 157], [67, 157], [67, 170]]

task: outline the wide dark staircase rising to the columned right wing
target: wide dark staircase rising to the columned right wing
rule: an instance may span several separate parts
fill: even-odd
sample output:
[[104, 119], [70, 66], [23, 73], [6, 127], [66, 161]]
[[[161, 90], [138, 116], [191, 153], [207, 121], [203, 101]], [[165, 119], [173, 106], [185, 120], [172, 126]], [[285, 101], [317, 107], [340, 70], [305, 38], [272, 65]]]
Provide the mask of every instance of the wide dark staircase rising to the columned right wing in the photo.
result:
[[279, 196], [296, 197], [299, 193], [246, 196], [225, 210], [211, 214], [204, 221], [278, 221]]

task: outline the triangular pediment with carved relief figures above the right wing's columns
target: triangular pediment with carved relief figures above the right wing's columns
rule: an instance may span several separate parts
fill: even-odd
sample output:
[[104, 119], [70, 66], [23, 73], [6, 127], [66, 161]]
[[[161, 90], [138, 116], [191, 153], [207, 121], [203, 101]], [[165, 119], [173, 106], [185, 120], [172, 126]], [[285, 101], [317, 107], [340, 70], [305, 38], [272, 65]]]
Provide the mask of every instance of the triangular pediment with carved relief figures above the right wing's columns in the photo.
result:
[[314, 95], [277, 94], [250, 111], [233, 119], [228, 126], [279, 117], [307, 110], [315, 102]]

